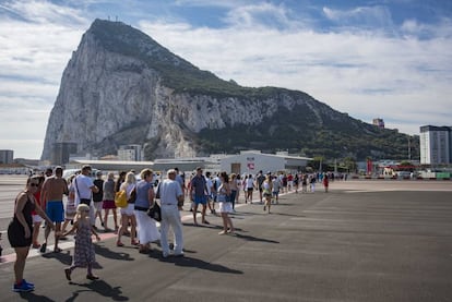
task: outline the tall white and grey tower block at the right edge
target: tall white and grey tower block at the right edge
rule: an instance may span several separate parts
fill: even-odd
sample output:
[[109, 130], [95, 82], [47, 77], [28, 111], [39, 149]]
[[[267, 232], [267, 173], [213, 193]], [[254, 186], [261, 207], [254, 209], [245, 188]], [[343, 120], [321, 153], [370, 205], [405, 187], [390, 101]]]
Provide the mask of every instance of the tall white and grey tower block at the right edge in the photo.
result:
[[451, 164], [451, 126], [420, 126], [420, 165]]

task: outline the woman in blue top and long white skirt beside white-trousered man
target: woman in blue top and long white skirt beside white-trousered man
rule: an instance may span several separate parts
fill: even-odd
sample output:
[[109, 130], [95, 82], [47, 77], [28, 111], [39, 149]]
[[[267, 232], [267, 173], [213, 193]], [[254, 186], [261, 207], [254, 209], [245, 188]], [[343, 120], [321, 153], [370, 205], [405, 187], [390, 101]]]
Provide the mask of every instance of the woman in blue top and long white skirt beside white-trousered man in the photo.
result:
[[140, 173], [141, 180], [135, 186], [136, 200], [134, 214], [136, 217], [138, 239], [140, 242], [139, 252], [143, 254], [151, 251], [151, 242], [160, 239], [160, 233], [158, 232], [156, 225], [157, 222], [147, 215], [147, 209], [155, 203], [153, 176], [151, 169], [143, 169]]

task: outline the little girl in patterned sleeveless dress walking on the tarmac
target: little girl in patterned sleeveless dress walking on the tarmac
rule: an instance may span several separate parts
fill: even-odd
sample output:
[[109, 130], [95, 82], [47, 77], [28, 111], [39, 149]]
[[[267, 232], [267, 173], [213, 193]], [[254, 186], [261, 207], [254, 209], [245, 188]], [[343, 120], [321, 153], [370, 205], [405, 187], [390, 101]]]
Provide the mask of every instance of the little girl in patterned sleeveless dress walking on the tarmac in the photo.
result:
[[100, 238], [91, 226], [90, 206], [80, 204], [76, 207], [76, 220], [74, 221], [72, 229], [61, 235], [68, 235], [73, 232], [76, 232], [74, 257], [72, 265], [64, 269], [66, 278], [71, 280], [71, 273], [75, 269], [75, 267], [87, 267], [86, 279], [98, 279], [99, 277], [93, 275], [93, 264], [96, 262], [96, 256], [91, 235], [94, 233], [97, 241], [99, 241]]

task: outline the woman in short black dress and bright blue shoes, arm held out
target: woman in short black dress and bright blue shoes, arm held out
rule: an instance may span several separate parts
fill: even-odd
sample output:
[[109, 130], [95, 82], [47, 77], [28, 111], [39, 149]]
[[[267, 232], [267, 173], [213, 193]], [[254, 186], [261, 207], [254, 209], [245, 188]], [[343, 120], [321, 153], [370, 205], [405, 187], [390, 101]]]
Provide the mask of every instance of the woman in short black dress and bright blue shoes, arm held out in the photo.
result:
[[35, 210], [36, 214], [46, 219], [48, 226], [53, 226], [52, 221], [47, 217], [46, 213], [40, 208], [33, 196], [38, 185], [38, 177], [28, 178], [25, 190], [19, 193], [15, 198], [14, 218], [8, 227], [8, 239], [11, 247], [14, 247], [16, 255], [14, 263], [15, 283], [12, 288], [13, 291], [32, 291], [35, 289], [33, 283], [25, 281], [23, 278], [25, 261], [33, 240], [32, 212]]

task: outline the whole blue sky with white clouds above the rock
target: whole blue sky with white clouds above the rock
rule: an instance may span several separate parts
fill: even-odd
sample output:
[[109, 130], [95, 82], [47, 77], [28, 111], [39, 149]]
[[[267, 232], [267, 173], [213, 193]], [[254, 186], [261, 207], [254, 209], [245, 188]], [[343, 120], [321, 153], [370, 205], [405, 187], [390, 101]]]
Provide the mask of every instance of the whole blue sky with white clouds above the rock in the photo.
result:
[[243, 86], [302, 90], [408, 134], [452, 125], [452, 1], [0, 0], [0, 149], [40, 156], [62, 72], [96, 17]]

